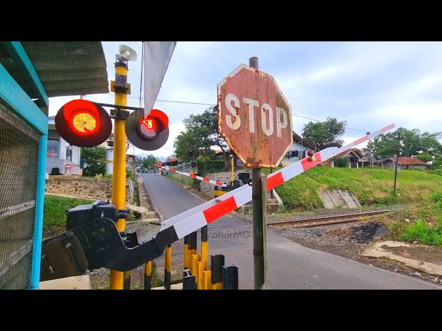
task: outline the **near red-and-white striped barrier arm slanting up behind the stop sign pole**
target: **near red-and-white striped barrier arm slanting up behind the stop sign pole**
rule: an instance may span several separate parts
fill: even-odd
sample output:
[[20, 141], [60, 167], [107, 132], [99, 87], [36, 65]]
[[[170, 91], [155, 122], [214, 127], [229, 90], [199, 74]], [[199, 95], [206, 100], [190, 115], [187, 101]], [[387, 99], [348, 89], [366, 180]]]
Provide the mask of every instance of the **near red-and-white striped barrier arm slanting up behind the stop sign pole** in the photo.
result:
[[[325, 150], [320, 150], [312, 157], [306, 157], [296, 163], [292, 163], [285, 168], [269, 174], [267, 177], [267, 191], [276, 188], [276, 186], [289, 181], [289, 179], [296, 177], [298, 174], [302, 174], [302, 172], [313, 168], [323, 161], [331, 159], [337, 154], [345, 152], [359, 143], [372, 139], [378, 136], [378, 134], [382, 134], [383, 132], [391, 130], [392, 128], [394, 128], [394, 124], [390, 124], [390, 126], [387, 126], [381, 130], [367, 134], [365, 137], [362, 137], [341, 148], [331, 147], [326, 148]], [[226, 194], [210, 201], [206, 201], [205, 203], [187, 210], [186, 212], [182, 212], [175, 217], [171, 217], [170, 219], [162, 222], [159, 234], [166, 229], [173, 228], [169, 229], [168, 232], [173, 232], [173, 236], [176, 238], [176, 240], [181, 239], [187, 234], [204, 227], [225, 214], [235, 210], [241, 205], [244, 205], [244, 203], [251, 201], [251, 191], [251, 186], [242, 185], [240, 188], [227, 192]]]

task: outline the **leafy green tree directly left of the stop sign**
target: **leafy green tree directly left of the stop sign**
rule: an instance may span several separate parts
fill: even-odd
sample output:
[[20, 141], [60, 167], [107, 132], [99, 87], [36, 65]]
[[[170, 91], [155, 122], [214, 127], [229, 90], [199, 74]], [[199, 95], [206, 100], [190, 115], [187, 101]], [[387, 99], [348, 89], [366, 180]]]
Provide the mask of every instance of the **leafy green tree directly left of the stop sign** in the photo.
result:
[[191, 161], [209, 153], [212, 146], [222, 150], [222, 158], [226, 168], [230, 167], [229, 145], [218, 132], [218, 107], [213, 106], [202, 114], [191, 114], [184, 119], [186, 132], [181, 132], [175, 139], [175, 154], [183, 161]]

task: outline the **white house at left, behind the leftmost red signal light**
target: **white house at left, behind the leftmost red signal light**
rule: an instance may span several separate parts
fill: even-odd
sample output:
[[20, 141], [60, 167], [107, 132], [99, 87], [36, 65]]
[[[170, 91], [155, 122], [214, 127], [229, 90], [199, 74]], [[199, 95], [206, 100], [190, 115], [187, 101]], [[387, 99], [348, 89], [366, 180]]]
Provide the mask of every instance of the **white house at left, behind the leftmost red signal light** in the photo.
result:
[[46, 149], [46, 172], [52, 173], [52, 168], [59, 168], [60, 174], [66, 174], [66, 165], [72, 165], [69, 174], [82, 174], [80, 168], [80, 148], [70, 144], [60, 137], [55, 128], [55, 116], [48, 118], [48, 147]]

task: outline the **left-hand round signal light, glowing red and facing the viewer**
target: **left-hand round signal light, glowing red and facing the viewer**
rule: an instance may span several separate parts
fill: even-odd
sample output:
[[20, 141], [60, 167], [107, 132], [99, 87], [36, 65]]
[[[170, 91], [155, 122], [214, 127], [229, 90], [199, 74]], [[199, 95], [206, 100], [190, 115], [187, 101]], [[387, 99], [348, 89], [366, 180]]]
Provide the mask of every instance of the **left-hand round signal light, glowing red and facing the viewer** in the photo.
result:
[[111, 135], [112, 121], [102, 106], [77, 99], [59, 109], [55, 128], [73, 146], [94, 147], [104, 143]]

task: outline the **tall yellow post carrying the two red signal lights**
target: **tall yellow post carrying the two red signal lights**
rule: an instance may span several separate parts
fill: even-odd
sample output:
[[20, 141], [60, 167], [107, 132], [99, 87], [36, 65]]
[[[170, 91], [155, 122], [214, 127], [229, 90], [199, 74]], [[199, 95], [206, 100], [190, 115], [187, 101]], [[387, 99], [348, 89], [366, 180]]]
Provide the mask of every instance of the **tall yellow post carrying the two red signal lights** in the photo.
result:
[[[127, 106], [127, 63], [115, 62], [115, 105]], [[119, 112], [117, 112], [118, 114]], [[112, 175], [112, 204], [117, 210], [124, 210], [126, 205], [126, 131], [124, 119], [121, 116], [114, 120], [113, 143], [113, 175]], [[124, 231], [124, 219], [118, 219], [117, 229]], [[111, 270], [111, 290], [122, 290], [124, 278], [128, 279], [130, 271], [124, 272]]]

